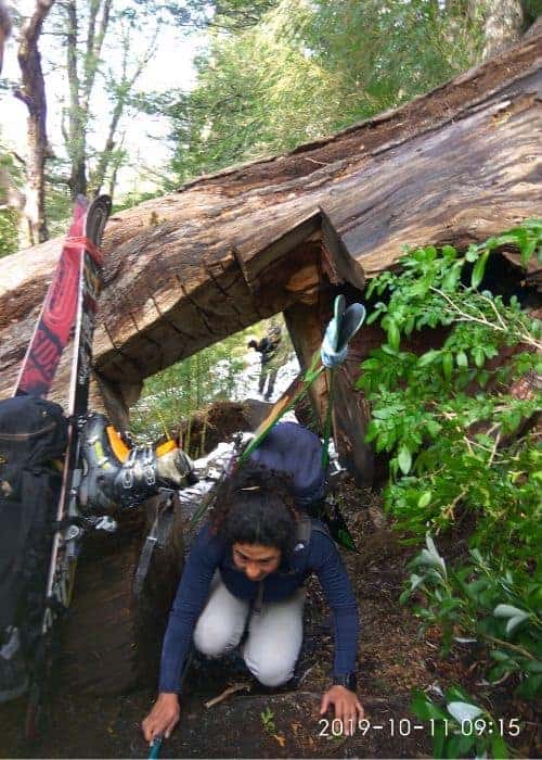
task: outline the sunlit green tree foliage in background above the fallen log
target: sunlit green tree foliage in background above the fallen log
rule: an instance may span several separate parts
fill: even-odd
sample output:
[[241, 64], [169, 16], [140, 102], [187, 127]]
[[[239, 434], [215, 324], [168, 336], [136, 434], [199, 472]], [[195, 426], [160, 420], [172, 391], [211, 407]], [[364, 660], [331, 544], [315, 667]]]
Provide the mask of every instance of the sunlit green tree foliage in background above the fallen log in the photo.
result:
[[475, 63], [479, 47], [475, 22], [431, 0], [262, 2], [241, 25], [238, 5], [220, 4], [196, 87], [169, 110], [181, 181], [411, 100]]

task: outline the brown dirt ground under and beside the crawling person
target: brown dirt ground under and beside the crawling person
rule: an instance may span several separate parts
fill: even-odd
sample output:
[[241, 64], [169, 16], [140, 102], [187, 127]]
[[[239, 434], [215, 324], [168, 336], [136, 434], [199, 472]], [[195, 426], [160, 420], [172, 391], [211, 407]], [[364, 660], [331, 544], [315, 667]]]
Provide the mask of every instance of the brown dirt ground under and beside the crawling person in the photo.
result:
[[[322, 693], [330, 683], [333, 636], [325, 600], [318, 581], [312, 580], [294, 682], [281, 689], [266, 689], [238, 658], [214, 663], [196, 659], [186, 679], [181, 722], [163, 744], [160, 757], [431, 756], [427, 726], [409, 709], [411, 689], [446, 688], [451, 683], [476, 688], [478, 663], [461, 653], [442, 660], [438, 632], [420, 636], [416, 618], [399, 605], [411, 549], [402, 547], [383, 521], [378, 495], [347, 483], [343, 510], [360, 549], [359, 555], [346, 553], [345, 561], [361, 615], [358, 682], [369, 721], [364, 731], [349, 738], [333, 736], [331, 715], [324, 721], [319, 714]], [[92, 662], [85, 664], [92, 669]], [[70, 685], [73, 674], [66, 672], [69, 669], [61, 673], [53, 697], [48, 731], [34, 746], [21, 739], [24, 700], [2, 707], [1, 757], [146, 757], [149, 747], [140, 723], [155, 698], [152, 684], [140, 684], [120, 695], [92, 696]], [[205, 707], [207, 700], [238, 684], [244, 688], [214, 707]], [[509, 694], [503, 693], [502, 700], [506, 714], [517, 714]], [[525, 706], [522, 709], [525, 717]], [[518, 752], [535, 757], [534, 742], [532, 731], [527, 732]]]

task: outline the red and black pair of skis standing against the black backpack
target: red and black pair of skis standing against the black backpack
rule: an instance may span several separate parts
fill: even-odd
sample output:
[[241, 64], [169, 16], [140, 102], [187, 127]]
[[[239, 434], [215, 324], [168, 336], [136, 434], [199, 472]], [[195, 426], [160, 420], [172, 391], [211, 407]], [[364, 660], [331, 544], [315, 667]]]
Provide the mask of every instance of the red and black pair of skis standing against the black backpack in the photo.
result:
[[34, 335], [23, 360], [14, 395], [47, 396], [62, 353], [72, 335], [73, 358], [67, 404], [68, 434], [62, 487], [56, 511], [47, 601], [41, 636], [34, 662], [28, 698], [26, 735], [37, 735], [43, 688], [49, 681], [53, 626], [70, 601], [81, 524], [77, 505], [80, 480], [80, 438], [87, 418], [98, 297], [102, 288], [102, 256], [99, 250], [111, 213], [111, 199], [77, 198], [72, 224], [53, 279], [49, 286]]

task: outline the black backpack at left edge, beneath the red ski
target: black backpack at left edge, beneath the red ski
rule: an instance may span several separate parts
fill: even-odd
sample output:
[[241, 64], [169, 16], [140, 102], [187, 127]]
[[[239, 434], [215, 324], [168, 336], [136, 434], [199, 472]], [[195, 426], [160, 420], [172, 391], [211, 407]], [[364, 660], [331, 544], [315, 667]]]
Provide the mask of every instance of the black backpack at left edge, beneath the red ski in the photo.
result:
[[34, 396], [0, 402], [0, 636], [17, 628], [27, 651], [40, 634], [67, 420]]

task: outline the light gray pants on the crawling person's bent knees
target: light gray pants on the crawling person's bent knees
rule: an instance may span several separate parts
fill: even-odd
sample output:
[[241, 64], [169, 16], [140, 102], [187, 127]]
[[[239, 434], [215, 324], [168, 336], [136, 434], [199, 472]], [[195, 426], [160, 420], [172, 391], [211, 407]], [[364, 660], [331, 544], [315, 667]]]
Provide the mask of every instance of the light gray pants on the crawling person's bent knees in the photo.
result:
[[[264, 686], [279, 686], [294, 674], [302, 642], [302, 590], [283, 601], [268, 601], [254, 609], [243, 658], [248, 670]], [[207, 604], [194, 629], [194, 644], [209, 657], [233, 649], [245, 630], [250, 605], [224, 586], [217, 571]]]

